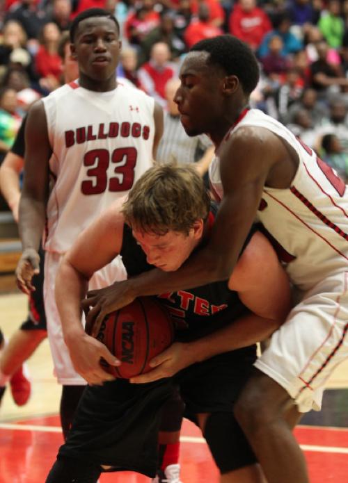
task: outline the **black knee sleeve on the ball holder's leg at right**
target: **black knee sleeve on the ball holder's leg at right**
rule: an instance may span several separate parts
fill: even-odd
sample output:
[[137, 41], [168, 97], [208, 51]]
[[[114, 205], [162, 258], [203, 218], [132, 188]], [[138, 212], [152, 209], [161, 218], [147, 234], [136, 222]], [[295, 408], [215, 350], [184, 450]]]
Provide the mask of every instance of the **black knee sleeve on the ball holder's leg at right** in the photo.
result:
[[210, 414], [204, 436], [221, 475], [255, 463], [253, 450], [232, 413]]

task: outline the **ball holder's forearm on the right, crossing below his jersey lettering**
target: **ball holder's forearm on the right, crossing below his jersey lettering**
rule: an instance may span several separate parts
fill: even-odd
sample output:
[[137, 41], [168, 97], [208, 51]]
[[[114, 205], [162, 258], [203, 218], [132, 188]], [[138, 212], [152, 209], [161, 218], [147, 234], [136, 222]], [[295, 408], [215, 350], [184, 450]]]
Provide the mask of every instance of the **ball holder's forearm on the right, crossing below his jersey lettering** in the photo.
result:
[[278, 329], [281, 322], [248, 313], [227, 327], [189, 343], [190, 350], [196, 354], [197, 362], [205, 361], [217, 354], [264, 341]]

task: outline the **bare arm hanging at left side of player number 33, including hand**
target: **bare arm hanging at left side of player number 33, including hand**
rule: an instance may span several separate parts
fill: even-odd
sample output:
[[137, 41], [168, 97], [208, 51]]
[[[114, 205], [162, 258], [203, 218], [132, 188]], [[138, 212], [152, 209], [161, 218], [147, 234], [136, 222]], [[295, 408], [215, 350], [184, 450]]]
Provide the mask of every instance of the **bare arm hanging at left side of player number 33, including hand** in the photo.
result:
[[34, 290], [31, 279], [39, 270], [38, 248], [45, 226], [49, 193], [49, 158], [52, 154], [42, 101], [33, 104], [25, 127], [25, 170], [19, 202], [19, 235], [23, 253], [19, 259], [17, 284], [25, 293]]

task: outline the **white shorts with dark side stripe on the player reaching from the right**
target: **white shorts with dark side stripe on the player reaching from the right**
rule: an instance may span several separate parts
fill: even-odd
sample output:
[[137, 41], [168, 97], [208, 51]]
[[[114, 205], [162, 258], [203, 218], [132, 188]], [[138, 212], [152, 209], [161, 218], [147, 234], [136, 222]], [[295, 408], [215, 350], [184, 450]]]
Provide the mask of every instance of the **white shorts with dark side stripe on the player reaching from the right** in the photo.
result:
[[348, 272], [328, 277], [294, 306], [255, 367], [294, 399], [299, 411], [319, 411], [324, 384], [348, 358]]

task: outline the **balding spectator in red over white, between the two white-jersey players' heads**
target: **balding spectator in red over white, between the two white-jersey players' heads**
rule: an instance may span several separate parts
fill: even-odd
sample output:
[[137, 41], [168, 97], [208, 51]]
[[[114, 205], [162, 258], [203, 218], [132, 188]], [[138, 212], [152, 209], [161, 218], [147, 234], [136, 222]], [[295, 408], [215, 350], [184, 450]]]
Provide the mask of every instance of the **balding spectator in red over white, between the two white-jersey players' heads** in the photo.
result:
[[171, 62], [171, 51], [165, 42], [157, 42], [152, 46], [150, 60], [139, 69], [138, 76], [143, 89], [148, 95], [166, 106], [165, 86], [169, 79], [177, 75], [177, 66]]

